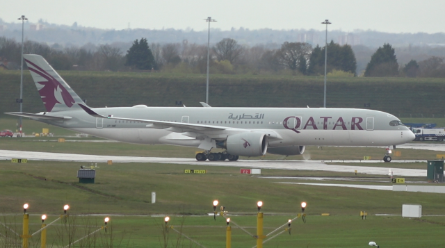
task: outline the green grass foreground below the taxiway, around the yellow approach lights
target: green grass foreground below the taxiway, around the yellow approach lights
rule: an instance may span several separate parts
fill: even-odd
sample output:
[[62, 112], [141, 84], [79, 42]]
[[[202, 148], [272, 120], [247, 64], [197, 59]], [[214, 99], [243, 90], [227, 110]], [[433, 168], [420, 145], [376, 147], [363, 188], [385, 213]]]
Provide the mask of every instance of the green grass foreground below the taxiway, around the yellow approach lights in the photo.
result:
[[[256, 202], [264, 201], [264, 233], [269, 233], [300, 212], [299, 204], [307, 201], [307, 223], [296, 220], [292, 235], [284, 233], [264, 247], [363, 247], [374, 240], [385, 247], [432, 247], [442, 242], [444, 217], [422, 217], [421, 220], [401, 216], [375, 216], [378, 213], [400, 215], [402, 204], [421, 204], [423, 215], [440, 215], [445, 199], [437, 194], [391, 192], [353, 188], [285, 185], [279, 179], [262, 179], [239, 173], [236, 167], [206, 167], [128, 163], [99, 164], [95, 184], [79, 184], [76, 171], [81, 163], [29, 161], [13, 164], [0, 161], [1, 213], [19, 213], [25, 202], [30, 204], [31, 233], [40, 226], [40, 215], [55, 220], [64, 204], [70, 204], [72, 216], [86, 213], [111, 215], [113, 235], [129, 247], [161, 247], [161, 225], [165, 214], [172, 217], [170, 225], [181, 229], [205, 247], [225, 247], [225, 221], [215, 222], [207, 213], [211, 202], [218, 199], [226, 206], [232, 220], [251, 233], [256, 229]], [[184, 169], [208, 170], [208, 174], [184, 174]], [[309, 176], [314, 172], [262, 170], [264, 176]], [[320, 176], [323, 172], [318, 172]], [[325, 176], [341, 176], [324, 173]], [[344, 176], [344, 175], [343, 175]], [[298, 180], [293, 180], [298, 181]], [[305, 181], [308, 182], [308, 181]], [[329, 182], [329, 181], [327, 181]], [[373, 183], [389, 185], [389, 183]], [[151, 192], [156, 204], [151, 204]], [[361, 220], [359, 212], [369, 213]], [[322, 217], [321, 213], [331, 216]], [[200, 217], [189, 215], [203, 215]], [[132, 216], [143, 215], [143, 216]], [[183, 220], [177, 215], [186, 215]], [[12, 217], [8, 217], [12, 218]], [[101, 225], [103, 216], [76, 217], [79, 231]], [[85, 220], [86, 218], [86, 220]], [[20, 230], [21, 217], [3, 222]], [[184, 221], [181, 224], [181, 221]], [[15, 224], [13, 224], [15, 223]], [[49, 229], [49, 240], [60, 241], [60, 226]], [[232, 224], [234, 226], [234, 224]], [[90, 230], [95, 229], [89, 227]], [[100, 238], [110, 233], [101, 232]], [[124, 234], [124, 238], [120, 238]], [[80, 234], [78, 234], [80, 237]], [[170, 231], [170, 240], [176, 234]], [[407, 238], [410, 237], [410, 238]], [[109, 238], [109, 237], [108, 237]], [[33, 242], [37, 242], [33, 239]], [[189, 247], [187, 241], [185, 247]], [[240, 229], [232, 229], [233, 247], [253, 247], [255, 241]], [[173, 246], [170, 246], [173, 247]], [[194, 246], [192, 246], [194, 247]]]

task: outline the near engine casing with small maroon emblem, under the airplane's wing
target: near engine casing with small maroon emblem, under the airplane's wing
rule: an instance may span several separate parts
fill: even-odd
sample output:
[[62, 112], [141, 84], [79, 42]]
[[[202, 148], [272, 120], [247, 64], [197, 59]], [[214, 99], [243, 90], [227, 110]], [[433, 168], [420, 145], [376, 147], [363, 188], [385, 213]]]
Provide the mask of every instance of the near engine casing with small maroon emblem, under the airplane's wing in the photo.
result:
[[229, 154], [238, 156], [263, 156], [267, 152], [267, 135], [265, 133], [239, 133], [229, 135], [223, 144]]

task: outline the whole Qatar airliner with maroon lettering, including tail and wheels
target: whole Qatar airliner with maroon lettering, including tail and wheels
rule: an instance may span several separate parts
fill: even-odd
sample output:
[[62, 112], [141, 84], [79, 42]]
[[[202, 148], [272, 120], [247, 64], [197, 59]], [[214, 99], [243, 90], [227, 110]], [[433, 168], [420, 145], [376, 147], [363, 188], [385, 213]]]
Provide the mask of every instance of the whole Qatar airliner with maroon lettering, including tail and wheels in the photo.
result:
[[[7, 113], [97, 137], [136, 144], [197, 147], [197, 160], [302, 154], [305, 146], [381, 146], [414, 140], [400, 119], [355, 108], [90, 108], [42, 56], [24, 55], [46, 112]], [[213, 148], [225, 149], [213, 153]]]

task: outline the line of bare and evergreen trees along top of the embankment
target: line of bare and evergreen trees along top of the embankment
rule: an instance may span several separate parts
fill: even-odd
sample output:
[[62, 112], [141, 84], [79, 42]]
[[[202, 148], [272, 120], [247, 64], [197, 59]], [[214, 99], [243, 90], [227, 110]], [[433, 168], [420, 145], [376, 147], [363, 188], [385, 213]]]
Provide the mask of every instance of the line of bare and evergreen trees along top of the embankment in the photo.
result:
[[[21, 44], [0, 37], [0, 59], [8, 69], [19, 69]], [[203, 44], [151, 43], [134, 40], [127, 51], [110, 44], [83, 47], [58, 47], [26, 41], [24, 53], [42, 55], [59, 70], [160, 71], [172, 73], [207, 72], [207, 46]], [[398, 65], [390, 44], [379, 47], [371, 56], [363, 76], [445, 77], [444, 58], [432, 56]], [[350, 45], [327, 44], [327, 73], [331, 76], [357, 76], [357, 62]], [[284, 42], [276, 49], [264, 45], [243, 46], [224, 38], [210, 49], [211, 74], [292, 74], [323, 75], [325, 47], [305, 42]], [[359, 75], [362, 76], [362, 75]]]

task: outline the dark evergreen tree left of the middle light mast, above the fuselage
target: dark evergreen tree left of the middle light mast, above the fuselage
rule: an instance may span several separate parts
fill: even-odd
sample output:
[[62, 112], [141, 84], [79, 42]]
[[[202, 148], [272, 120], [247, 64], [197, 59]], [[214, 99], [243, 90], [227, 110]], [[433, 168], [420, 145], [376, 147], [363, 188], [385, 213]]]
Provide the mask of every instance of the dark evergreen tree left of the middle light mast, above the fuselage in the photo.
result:
[[134, 66], [137, 69], [157, 69], [152, 50], [149, 48], [147, 39], [141, 38], [140, 42], [135, 40], [125, 56], [125, 65]]

